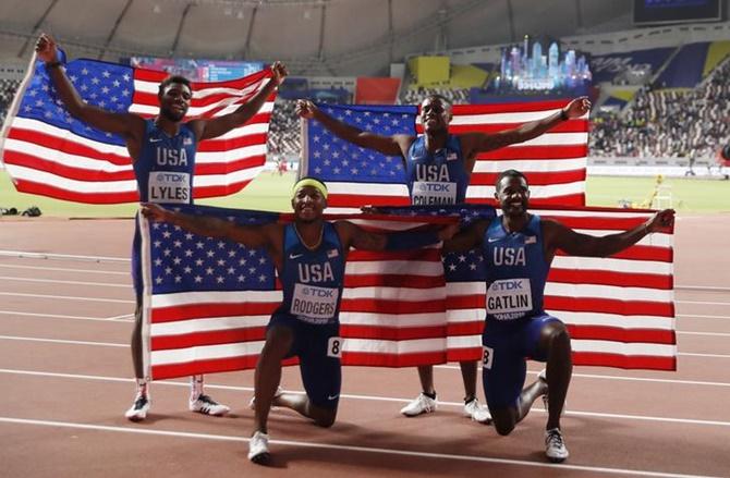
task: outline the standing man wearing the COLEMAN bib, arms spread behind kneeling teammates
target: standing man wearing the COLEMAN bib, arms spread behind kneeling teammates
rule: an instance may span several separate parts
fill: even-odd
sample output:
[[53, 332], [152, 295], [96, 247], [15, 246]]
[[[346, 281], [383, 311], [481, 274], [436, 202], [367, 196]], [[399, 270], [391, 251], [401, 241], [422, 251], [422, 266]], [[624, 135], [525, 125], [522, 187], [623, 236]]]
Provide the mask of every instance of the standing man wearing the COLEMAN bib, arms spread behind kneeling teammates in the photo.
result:
[[[445, 97], [429, 95], [421, 103], [423, 135], [380, 136], [333, 119], [312, 101], [296, 102], [300, 117], [317, 120], [340, 138], [384, 155], [400, 156], [405, 168], [411, 204], [453, 205], [466, 199], [466, 187], [478, 152], [533, 139], [570, 118], [583, 117], [589, 111], [591, 101], [585, 97], [576, 98], [545, 119], [495, 134], [450, 134], [451, 109], [451, 103]], [[460, 366], [465, 392], [464, 414], [476, 421], [488, 422], [489, 414], [476, 399], [477, 363], [461, 361]], [[409, 417], [434, 412], [437, 407], [434, 367], [419, 366], [418, 378], [421, 394], [401, 409]]]

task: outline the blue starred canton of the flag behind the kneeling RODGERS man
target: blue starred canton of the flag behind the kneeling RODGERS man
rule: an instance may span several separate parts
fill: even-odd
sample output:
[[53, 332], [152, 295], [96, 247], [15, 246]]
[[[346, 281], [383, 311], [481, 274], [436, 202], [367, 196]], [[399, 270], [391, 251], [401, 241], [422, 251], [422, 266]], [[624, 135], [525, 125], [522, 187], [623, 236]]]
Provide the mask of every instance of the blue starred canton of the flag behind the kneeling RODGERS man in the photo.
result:
[[[241, 225], [276, 222], [279, 215], [188, 206], [174, 208], [216, 216]], [[195, 291], [270, 291], [276, 284], [273, 262], [265, 248], [193, 234], [153, 222], [149, 230], [153, 294]]]

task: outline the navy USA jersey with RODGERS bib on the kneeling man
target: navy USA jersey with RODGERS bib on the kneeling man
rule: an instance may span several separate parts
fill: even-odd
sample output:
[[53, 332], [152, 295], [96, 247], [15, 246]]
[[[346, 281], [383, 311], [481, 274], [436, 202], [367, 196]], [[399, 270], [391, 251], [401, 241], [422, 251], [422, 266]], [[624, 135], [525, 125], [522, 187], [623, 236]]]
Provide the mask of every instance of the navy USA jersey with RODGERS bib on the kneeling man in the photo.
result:
[[284, 299], [277, 314], [290, 314], [307, 323], [338, 321], [344, 255], [334, 225], [324, 223], [319, 247], [309, 250], [294, 224], [284, 229], [284, 260], [281, 273]]

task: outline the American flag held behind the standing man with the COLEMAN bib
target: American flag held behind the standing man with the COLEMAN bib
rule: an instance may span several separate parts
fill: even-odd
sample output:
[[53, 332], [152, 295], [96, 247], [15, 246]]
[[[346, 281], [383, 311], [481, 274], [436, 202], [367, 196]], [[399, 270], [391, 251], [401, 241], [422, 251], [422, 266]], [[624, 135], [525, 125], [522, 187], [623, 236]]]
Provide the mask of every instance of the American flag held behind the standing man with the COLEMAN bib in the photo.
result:
[[[565, 101], [455, 105], [449, 131], [494, 133], [553, 114]], [[423, 131], [415, 106], [320, 105], [329, 115], [372, 133], [415, 135]], [[466, 201], [494, 204], [495, 181], [506, 169], [526, 174], [535, 206], [585, 204], [588, 120], [564, 121], [548, 133], [477, 156]], [[324, 177], [330, 208], [410, 204], [402, 159], [361, 148], [332, 135], [317, 121], [303, 122], [303, 174]]]

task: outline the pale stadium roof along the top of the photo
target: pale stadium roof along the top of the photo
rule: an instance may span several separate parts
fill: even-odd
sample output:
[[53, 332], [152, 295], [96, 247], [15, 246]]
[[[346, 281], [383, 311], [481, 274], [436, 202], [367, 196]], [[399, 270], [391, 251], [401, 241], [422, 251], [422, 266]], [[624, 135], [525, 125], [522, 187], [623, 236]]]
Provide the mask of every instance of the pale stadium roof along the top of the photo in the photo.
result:
[[632, 0], [3, 0], [0, 58], [40, 32], [72, 57], [285, 61], [292, 74], [382, 75], [411, 53], [626, 28]]

